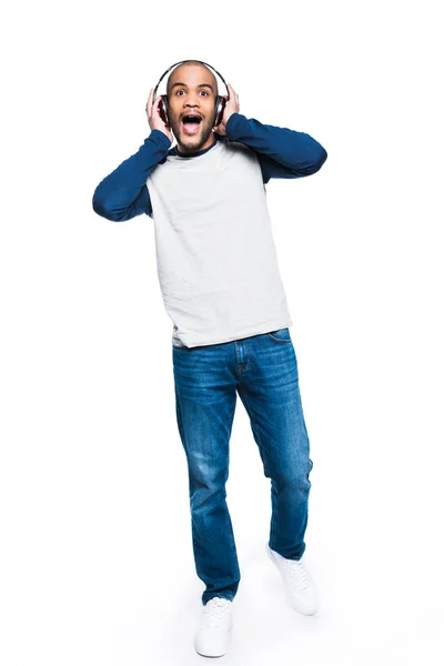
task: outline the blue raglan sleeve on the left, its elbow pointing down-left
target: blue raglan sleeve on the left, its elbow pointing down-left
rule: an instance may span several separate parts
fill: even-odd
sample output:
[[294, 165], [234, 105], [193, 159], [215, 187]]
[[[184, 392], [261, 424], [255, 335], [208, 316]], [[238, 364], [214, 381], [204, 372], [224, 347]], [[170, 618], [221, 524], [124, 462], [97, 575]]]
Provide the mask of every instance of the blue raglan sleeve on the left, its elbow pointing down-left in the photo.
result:
[[152, 214], [147, 179], [171, 145], [160, 130], [152, 130], [138, 152], [124, 160], [95, 188], [92, 208], [111, 222], [124, 222], [135, 215]]

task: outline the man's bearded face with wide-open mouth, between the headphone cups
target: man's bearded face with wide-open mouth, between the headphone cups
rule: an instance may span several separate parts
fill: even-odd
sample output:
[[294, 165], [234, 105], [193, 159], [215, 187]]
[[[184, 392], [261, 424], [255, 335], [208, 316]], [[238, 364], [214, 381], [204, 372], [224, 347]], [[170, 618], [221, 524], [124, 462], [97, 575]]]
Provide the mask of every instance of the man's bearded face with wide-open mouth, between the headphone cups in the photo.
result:
[[[216, 94], [215, 77], [203, 65], [182, 64], [170, 75], [168, 115], [179, 152], [196, 152], [213, 144]], [[184, 122], [189, 115], [194, 115], [195, 121]]]

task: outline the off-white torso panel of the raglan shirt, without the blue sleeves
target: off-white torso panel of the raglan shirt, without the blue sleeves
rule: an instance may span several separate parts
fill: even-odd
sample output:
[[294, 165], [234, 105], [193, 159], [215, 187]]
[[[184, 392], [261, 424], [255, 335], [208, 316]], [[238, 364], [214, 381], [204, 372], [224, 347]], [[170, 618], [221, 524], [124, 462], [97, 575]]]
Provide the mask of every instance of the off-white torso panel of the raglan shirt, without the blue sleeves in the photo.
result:
[[216, 141], [168, 154], [147, 179], [172, 344], [194, 347], [293, 325], [255, 152]]

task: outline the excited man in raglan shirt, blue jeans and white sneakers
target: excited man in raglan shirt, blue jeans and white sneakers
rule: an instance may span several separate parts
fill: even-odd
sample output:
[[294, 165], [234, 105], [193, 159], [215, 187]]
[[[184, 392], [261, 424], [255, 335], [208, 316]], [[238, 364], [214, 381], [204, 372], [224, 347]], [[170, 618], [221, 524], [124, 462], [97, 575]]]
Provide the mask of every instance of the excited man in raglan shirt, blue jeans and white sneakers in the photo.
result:
[[[317, 609], [302, 562], [313, 463], [309, 455], [292, 325], [266, 206], [272, 178], [319, 171], [323, 147], [309, 134], [240, 113], [238, 93], [218, 127], [216, 80], [201, 61], [183, 61], [161, 97], [147, 103], [151, 133], [98, 185], [94, 211], [113, 221], [154, 221], [158, 274], [173, 322], [178, 426], [189, 470], [192, 543], [205, 584], [194, 647], [226, 653], [240, 569], [225, 502], [236, 394], [271, 480], [266, 552], [296, 610]], [[176, 145], [171, 148], [173, 135]]]

